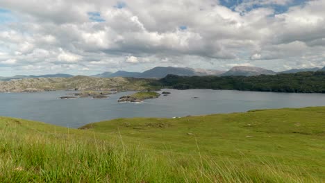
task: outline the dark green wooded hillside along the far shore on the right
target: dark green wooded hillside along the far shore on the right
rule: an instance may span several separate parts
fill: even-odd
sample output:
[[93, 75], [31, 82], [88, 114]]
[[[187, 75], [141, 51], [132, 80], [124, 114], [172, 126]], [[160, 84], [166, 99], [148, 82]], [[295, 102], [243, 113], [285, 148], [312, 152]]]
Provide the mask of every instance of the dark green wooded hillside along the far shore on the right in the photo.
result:
[[259, 92], [325, 93], [325, 71], [260, 76], [176, 76], [151, 82], [174, 89], [235, 89]]

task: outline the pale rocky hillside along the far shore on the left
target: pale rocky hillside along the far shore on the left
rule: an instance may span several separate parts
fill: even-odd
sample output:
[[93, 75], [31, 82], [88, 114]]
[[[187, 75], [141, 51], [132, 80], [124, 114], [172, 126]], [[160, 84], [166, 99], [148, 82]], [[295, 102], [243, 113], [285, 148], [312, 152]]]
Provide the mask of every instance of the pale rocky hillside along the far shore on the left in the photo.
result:
[[25, 78], [0, 81], [0, 92], [43, 92], [53, 90], [147, 90], [149, 80], [140, 78]]

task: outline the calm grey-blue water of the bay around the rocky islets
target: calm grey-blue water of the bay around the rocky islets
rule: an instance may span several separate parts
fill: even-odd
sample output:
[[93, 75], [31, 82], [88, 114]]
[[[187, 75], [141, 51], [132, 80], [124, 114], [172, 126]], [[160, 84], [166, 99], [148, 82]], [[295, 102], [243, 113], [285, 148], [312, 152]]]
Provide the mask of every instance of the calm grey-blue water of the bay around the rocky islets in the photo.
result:
[[[253, 109], [325, 105], [325, 94], [280, 94], [228, 90], [174, 90], [169, 96], [144, 103], [117, 103], [124, 92], [107, 99], [78, 98], [59, 100], [72, 92], [0, 94], [0, 116], [44, 121], [69, 128], [107, 119], [135, 116], [173, 117], [199, 114], [246, 112]], [[199, 97], [199, 98], [193, 98]]]

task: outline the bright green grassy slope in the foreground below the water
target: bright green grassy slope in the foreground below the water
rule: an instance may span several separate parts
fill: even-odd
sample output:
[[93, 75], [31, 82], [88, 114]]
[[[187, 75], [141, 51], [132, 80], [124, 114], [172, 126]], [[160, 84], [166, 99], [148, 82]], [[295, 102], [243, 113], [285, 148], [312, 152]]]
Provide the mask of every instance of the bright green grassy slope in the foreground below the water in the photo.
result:
[[325, 107], [62, 128], [0, 118], [0, 182], [324, 182]]

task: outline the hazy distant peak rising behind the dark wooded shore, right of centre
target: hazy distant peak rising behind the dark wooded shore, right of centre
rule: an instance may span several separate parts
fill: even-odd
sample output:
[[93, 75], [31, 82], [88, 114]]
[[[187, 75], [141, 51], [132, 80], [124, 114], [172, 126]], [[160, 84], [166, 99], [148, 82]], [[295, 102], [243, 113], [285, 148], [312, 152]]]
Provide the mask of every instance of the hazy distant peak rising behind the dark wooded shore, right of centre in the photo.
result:
[[258, 76], [262, 74], [275, 75], [276, 72], [260, 67], [236, 66], [223, 73], [222, 76]]

